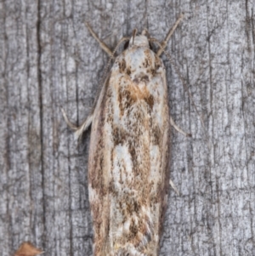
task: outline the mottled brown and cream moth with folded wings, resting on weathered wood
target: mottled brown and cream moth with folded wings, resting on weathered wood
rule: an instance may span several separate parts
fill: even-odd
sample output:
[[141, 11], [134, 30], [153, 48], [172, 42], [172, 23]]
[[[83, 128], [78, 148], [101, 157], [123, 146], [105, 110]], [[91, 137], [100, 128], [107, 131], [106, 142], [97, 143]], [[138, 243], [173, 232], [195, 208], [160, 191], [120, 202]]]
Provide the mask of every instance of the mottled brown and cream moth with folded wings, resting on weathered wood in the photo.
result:
[[[78, 137], [92, 125], [88, 193], [95, 256], [152, 256], [159, 253], [169, 186], [170, 123], [165, 66], [150, 49], [148, 31], [133, 31], [114, 60], [92, 114], [80, 127], [65, 122]], [[87, 24], [88, 26], [88, 24]], [[114, 58], [94, 31], [88, 30]], [[127, 45], [128, 44], [128, 45]]]

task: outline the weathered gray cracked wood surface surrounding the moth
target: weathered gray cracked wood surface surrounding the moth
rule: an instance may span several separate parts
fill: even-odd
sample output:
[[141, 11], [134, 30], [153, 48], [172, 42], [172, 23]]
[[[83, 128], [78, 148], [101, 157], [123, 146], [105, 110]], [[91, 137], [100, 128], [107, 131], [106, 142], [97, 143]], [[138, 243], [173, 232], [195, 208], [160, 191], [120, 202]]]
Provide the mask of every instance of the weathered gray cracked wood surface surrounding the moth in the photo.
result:
[[[80, 148], [61, 116], [88, 116], [110, 48], [133, 28], [167, 51], [172, 190], [160, 255], [255, 255], [255, 6], [252, 0], [0, 2], [0, 254], [30, 240], [44, 255], [92, 255], [89, 132]], [[202, 117], [205, 127], [202, 127]]]

